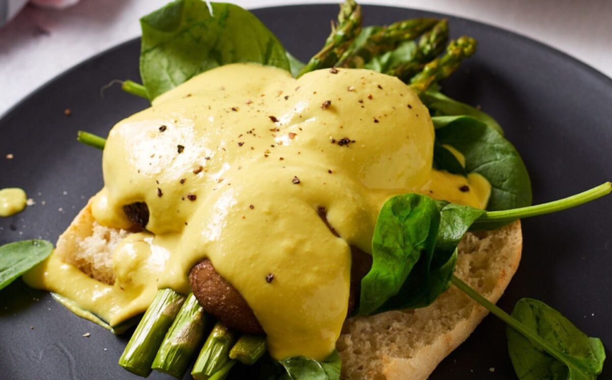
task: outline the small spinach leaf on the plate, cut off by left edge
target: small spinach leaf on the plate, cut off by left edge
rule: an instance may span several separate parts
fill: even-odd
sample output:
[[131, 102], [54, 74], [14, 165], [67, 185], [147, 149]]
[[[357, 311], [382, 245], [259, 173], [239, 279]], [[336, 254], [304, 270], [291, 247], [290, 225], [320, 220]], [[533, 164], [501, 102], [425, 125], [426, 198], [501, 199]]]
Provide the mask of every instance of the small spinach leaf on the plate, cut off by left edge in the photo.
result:
[[2, 245], [0, 247], [0, 289], [46, 259], [51, 251], [53, 251], [53, 244], [39, 239]]

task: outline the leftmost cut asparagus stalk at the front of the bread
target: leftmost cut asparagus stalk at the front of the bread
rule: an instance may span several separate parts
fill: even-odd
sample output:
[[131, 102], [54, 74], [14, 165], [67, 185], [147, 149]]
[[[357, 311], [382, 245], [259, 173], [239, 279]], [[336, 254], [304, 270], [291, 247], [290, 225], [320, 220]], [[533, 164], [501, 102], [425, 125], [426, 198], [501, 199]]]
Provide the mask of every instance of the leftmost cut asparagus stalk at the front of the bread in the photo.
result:
[[149, 376], [155, 353], [176, 318], [185, 296], [172, 289], [160, 289], [144, 313], [136, 331], [119, 358], [119, 365], [138, 376]]

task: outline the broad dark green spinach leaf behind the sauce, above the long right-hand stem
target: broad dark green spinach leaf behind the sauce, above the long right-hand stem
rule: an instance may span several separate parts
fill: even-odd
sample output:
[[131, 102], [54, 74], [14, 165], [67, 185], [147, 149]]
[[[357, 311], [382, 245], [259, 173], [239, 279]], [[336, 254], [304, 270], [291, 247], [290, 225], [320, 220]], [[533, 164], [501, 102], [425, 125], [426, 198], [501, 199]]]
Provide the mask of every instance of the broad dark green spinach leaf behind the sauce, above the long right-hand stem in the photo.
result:
[[[470, 116], [436, 116], [436, 141], [465, 157], [468, 173], [482, 174], [491, 184], [487, 210], [506, 210], [531, 204], [531, 181], [515, 147], [499, 132]], [[499, 225], [490, 226], [498, 228]]]

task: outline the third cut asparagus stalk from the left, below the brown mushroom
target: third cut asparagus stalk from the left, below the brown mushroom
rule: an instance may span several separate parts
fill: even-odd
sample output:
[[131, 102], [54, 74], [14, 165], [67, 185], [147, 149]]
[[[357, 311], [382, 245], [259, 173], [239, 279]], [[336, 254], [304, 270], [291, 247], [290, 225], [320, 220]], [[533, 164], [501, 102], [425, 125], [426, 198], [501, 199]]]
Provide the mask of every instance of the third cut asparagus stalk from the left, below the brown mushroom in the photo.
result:
[[231, 346], [236, 341], [233, 332], [217, 322], [206, 339], [206, 343], [193, 365], [192, 376], [196, 380], [207, 380], [220, 370], [229, 360]]

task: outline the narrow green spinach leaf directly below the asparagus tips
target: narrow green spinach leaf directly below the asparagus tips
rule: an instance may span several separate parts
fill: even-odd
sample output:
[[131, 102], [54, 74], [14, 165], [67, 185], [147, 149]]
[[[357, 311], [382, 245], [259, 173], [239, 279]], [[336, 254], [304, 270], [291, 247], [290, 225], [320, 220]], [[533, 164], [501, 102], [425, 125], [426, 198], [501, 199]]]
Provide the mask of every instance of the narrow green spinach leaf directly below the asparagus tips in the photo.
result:
[[501, 126], [493, 117], [477, 110], [471, 105], [450, 99], [437, 89], [430, 88], [428, 91], [419, 94], [419, 96], [421, 101], [430, 109], [432, 116], [471, 116], [487, 124], [502, 136], [504, 135], [504, 130], [502, 130]]

